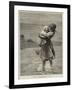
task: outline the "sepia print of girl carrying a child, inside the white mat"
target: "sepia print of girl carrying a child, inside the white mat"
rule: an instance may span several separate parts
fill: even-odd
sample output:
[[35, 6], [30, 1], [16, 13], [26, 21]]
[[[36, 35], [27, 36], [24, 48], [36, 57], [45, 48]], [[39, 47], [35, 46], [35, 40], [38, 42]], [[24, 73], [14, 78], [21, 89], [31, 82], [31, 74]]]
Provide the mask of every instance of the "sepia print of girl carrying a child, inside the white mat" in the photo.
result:
[[63, 73], [62, 13], [18, 11], [19, 76]]

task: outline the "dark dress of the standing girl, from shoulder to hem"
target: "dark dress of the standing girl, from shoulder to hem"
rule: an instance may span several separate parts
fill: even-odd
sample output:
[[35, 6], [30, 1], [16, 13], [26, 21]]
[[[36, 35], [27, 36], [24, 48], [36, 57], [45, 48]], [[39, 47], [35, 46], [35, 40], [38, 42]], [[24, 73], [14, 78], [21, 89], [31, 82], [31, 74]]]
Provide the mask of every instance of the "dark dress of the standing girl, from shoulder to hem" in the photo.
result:
[[[54, 33], [53, 33], [54, 35]], [[53, 35], [45, 38], [46, 43], [40, 45], [41, 49], [40, 49], [40, 58], [41, 60], [52, 60], [53, 56], [55, 55], [55, 51], [53, 48], [53, 43], [51, 41], [51, 38], [53, 37]], [[41, 37], [40, 37], [41, 38]]]

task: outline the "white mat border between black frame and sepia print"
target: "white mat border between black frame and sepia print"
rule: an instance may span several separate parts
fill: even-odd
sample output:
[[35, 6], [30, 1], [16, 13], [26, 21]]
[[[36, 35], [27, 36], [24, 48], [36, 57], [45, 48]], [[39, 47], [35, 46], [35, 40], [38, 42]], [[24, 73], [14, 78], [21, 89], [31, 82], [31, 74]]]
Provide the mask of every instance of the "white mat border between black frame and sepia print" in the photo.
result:
[[[18, 27], [18, 10], [30, 11], [48, 11], [48, 12], [63, 12], [63, 75], [49, 78], [32, 78], [32, 79], [18, 79], [18, 60], [19, 50], [19, 27]], [[34, 6], [14, 6], [14, 84], [36, 84], [36, 83], [53, 83], [53, 82], [67, 82], [67, 8], [50, 8], [50, 7], [34, 7]]]

